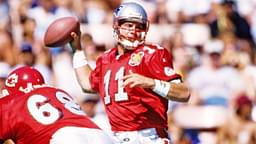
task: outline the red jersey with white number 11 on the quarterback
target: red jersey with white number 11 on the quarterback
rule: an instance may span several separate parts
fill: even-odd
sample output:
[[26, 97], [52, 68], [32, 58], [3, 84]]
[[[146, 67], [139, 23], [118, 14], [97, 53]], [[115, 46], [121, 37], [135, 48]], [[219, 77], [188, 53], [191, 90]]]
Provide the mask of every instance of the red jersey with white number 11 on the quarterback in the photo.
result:
[[173, 70], [170, 53], [156, 45], [145, 45], [117, 54], [117, 48], [105, 52], [90, 74], [91, 86], [105, 104], [112, 130], [167, 128], [168, 100], [151, 89], [123, 87], [122, 78], [129, 71], [165, 81], [180, 78]]

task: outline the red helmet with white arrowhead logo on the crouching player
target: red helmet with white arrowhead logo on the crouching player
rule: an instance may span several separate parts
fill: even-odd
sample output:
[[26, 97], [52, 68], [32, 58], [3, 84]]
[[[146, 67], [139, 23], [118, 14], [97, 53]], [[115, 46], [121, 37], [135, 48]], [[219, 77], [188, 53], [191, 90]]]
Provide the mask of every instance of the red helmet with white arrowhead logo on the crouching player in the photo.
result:
[[3, 94], [4, 96], [23, 95], [43, 84], [45, 80], [38, 70], [30, 66], [22, 66], [8, 74]]

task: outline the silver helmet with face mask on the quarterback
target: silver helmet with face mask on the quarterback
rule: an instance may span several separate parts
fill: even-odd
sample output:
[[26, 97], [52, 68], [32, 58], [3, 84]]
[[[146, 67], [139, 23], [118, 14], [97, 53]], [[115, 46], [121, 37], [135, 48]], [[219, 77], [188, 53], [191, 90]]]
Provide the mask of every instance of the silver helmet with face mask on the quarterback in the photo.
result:
[[[137, 35], [128, 37], [120, 33], [120, 25], [124, 22], [135, 22], [139, 24], [139, 30], [136, 29]], [[145, 42], [148, 32], [149, 22], [145, 9], [134, 2], [123, 3], [114, 10], [114, 36], [116, 40], [126, 49], [134, 49]]]

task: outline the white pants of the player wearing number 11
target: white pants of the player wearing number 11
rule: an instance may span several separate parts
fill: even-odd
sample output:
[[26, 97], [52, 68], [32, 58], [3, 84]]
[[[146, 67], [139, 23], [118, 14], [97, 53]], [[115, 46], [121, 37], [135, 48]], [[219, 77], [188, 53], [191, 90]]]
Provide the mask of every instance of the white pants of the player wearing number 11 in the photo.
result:
[[139, 131], [114, 132], [115, 144], [170, 144], [167, 138], [161, 138], [155, 128]]

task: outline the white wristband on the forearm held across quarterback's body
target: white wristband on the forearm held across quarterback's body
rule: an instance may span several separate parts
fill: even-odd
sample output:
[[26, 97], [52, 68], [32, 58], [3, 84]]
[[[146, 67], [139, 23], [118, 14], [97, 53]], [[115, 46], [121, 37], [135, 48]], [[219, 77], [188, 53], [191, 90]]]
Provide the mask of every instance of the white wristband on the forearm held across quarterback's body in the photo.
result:
[[154, 79], [154, 81], [155, 87], [153, 91], [162, 97], [166, 97], [170, 90], [171, 84], [169, 82], [160, 81], [158, 79]]

